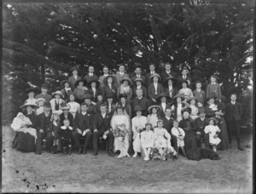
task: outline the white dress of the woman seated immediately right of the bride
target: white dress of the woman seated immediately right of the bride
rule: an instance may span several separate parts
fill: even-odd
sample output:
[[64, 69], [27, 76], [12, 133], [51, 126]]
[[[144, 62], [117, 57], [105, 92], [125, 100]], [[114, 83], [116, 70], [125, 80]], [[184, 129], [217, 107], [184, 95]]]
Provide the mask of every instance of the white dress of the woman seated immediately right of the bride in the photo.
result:
[[133, 117], [131, 119], [131, 129], [133, 132], [133, 150], [137, 152], [141, 152], [141, 131], [139, 129], [145, 128], [145, 124], [147, 123], [147, 117]]

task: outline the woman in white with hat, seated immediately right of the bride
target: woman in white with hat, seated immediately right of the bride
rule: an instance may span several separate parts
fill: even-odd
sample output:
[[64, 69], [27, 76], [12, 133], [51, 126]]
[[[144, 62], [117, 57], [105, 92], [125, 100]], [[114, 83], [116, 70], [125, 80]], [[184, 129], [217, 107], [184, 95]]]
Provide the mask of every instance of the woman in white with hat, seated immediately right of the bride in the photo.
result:
[[131, 129], [133, 132], [133, 157], [137, 157], [137, 152], [141, 152], [142, 143], [141, 143], [141, 132], [143, 128], [145, 128], [145, 124], [147, 123], [147, 117], [142, 116], [143, 109], [140, 106], [136, 106], [134, 111], [136, 111], [137, 116], [131, 119]]

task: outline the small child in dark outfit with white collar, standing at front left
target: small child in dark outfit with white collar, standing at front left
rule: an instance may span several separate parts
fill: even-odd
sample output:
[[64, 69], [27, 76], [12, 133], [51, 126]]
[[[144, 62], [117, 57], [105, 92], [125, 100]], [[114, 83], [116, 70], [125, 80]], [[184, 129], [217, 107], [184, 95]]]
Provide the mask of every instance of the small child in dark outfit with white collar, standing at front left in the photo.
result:
[[61, 131], [60, 131], [61, 148], [63, 149], [64, 154], [67, 154], [67, 147], [68, 147], [68, 155], [70, 155], [72, 152], [72, 145], [73, 145], [73, 139], [72, 139], [73, 128], [69, 126], [70, 122], [68, 119], [65, 119], [63, 123], [64, 123], [64, 126], [61, 126]]

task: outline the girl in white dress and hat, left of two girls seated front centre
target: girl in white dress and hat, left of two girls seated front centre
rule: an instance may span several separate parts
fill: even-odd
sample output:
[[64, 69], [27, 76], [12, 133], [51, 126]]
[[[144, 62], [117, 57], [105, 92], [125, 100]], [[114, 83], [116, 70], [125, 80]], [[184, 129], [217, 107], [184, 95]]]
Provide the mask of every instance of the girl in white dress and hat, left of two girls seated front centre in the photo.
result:
[[151, 148], [154, 146], [154, 132], [152, 131], [152, 129], [152, 124], [146, 123], [146, 130], [144, 130], [141, 134], [141, 142], [145, 154], [145, 157], [143, 159], [144, 161], [149, 160]]

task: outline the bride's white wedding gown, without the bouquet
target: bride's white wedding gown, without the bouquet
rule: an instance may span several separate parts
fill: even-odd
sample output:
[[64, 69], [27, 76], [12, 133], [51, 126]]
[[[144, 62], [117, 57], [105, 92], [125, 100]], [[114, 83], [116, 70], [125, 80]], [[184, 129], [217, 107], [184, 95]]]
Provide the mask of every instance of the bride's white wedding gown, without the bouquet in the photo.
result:
[[[122, 127], [125, 125], [125, 128]], [[113, 128], [113, 134], [115, 130], [124, 130], [129, 128], [128, 117], [125, 115], [114, 115], [111, 120], [111, 127]], [[129, 133], [125, 134], [125, 137], [115, 136], [113, 141], [114, 151], [121, 151], [123, 155], [128, 155], [129, 149]]]

